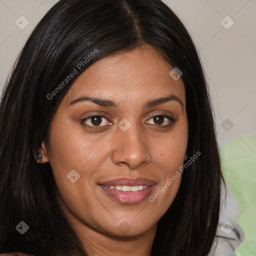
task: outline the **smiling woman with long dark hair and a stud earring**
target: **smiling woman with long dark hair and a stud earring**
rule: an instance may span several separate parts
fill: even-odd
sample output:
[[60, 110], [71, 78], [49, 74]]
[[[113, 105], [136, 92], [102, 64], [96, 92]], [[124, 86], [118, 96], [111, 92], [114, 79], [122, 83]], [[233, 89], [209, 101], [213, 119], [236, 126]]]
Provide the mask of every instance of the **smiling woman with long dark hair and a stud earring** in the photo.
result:
[[57, 2], [19, 55], [0, 120], [1, 253], [214, 252], [211, 104], [194, 44], [160, 0]]

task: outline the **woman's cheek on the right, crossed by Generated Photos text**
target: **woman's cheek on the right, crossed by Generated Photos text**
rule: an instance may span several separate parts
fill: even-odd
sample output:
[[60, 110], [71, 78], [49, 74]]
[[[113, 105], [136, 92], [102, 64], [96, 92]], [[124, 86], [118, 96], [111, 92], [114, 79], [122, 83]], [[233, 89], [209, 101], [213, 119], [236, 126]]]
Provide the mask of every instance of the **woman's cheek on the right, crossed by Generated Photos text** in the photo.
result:
[[177, 129], [164, 139], [153, 140], [151, 144], [155, 149], [155, 157], [158, 165], [158, 174], [161, 182], [149, 201], [157, 208], [154, 211], [155, 218], [159, 219], [173, 202], [182, 177], [182, 165], [187, 146], [186, 129]]

